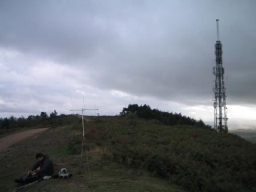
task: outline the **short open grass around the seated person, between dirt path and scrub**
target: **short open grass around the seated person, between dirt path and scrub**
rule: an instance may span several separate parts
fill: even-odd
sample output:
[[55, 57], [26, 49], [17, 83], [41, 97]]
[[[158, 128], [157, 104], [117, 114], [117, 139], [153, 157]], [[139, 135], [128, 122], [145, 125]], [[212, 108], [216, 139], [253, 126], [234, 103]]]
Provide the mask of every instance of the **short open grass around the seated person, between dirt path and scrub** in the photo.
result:
[[[81, 122], [78, 125], [81, 128]], [[166, 180], [151, 177], [145, 169], [131, 169], [114, 162], [110, 158], [110, 151], [103, 147], [87, 151], [90, 171], [84, 157], [82, 174], [78, 174], [79, 155], [71, 154], [69, 143], [73, 138], [81, 142], [80, 130], [73, 129], [73, 125], [55, 127], [0, 153], [0, 191], [8, 191], [16, 186], [14, 178], [30, 169], [39, 151], [48, 154], [53, 160], [55, 173], [66, 167], [73, 177], [39, 182], [22, 191], [184, 191]]]

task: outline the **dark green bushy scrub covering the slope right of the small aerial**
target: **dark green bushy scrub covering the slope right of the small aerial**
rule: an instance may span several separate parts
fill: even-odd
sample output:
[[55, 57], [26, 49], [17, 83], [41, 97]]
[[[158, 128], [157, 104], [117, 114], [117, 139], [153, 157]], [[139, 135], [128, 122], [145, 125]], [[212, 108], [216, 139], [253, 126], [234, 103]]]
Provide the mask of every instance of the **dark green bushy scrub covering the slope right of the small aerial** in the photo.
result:
[[[185, 190], [256, 191], [256, 146], [237, 135], [133, 116], [92, 119], [86, 133], [87, 147], [107, 147], [113, 161], [149, 170]], [[70, 144], [73, 153], [78, 143]]]

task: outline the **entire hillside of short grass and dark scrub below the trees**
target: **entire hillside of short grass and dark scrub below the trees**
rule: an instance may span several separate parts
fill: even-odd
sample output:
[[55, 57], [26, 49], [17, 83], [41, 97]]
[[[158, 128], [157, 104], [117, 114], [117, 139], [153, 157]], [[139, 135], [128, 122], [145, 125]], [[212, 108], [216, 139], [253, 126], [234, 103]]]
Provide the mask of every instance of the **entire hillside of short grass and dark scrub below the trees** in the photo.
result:
[[[79, 122], [78, 122], [79, 121]], [[55, 173], [66, 167], [70, 179], [50, 179], [23, 191], [256, 191], [256, 145], [207, 127], [164, 125], [157, 120], [86, 117], [86, 158], [78, 173], [81, 119], [15, 144], [0, 154], [0, 189], [15, 186], [42, 151]]]

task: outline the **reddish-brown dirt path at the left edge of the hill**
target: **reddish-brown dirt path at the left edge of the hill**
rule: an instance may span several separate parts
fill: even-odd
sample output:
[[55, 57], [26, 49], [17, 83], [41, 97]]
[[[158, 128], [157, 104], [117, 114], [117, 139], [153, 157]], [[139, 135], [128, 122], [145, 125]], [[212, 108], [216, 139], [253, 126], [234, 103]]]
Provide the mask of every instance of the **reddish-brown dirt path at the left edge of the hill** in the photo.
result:
[[23, 139], [33, 136], [34, 134], [41, 133], [49, 128], [31, 129], [27, 131], [22, 131], [19, 133], [14, 133], [12, 135], [0, 138], [0, 151], [7, 149], [9, 146], [17, 143]]

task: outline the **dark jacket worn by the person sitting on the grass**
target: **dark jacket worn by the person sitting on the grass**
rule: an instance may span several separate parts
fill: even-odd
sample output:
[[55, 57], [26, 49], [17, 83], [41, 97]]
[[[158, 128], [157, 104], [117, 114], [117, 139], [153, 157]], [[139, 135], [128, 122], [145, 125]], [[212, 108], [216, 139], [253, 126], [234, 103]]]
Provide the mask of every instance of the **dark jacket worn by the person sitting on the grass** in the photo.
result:
[[43, 177], [45, 175], [53, 175], [54, 166], [53, 166], [53, 162], [51, 162], [48, 155], [43, 155], [43, 160], [41, 162], [35, 163], [35, 165], [32, 167], [31, 170], [35, 170], [38, 167], [40, 167], [40, 169], [36, 173], [40, 177]]

